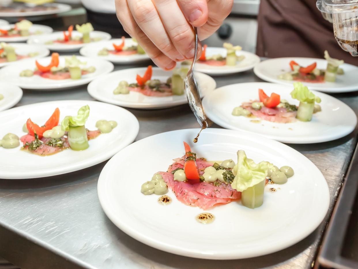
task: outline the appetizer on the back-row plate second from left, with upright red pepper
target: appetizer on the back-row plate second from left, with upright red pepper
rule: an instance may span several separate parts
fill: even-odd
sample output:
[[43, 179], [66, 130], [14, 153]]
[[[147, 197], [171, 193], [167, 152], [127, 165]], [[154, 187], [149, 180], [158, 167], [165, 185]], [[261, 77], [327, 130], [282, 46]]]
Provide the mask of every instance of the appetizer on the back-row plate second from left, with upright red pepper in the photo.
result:
[[82, 25], [76, 24], [76, 30], [78, 33], [81, 33], [82, 36], [72, 36], [73, 25], [68, 27], [68, 31], [63, 31], [63, 38], [58, 38], [56, 40], [49, 40], [45, 44], [61, 43], [61, 44], [83, 44], [95, 41], [101, 41], [101, 37], [91, 37], [90, 34], [93, 32], [93, 27], [91, 23], [84, 23]]

